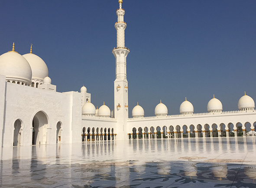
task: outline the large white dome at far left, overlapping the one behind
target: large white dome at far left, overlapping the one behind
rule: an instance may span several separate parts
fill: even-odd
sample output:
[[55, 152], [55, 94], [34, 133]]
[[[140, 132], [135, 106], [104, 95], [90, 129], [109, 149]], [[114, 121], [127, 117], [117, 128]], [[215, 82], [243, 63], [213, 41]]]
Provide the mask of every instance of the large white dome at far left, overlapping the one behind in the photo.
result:
[[30, 85], [32, 70], [28, 61], [13, 48], [13, 51], [0, 56], [0, 75], [5, 75], [6, 80], [21, 81]]

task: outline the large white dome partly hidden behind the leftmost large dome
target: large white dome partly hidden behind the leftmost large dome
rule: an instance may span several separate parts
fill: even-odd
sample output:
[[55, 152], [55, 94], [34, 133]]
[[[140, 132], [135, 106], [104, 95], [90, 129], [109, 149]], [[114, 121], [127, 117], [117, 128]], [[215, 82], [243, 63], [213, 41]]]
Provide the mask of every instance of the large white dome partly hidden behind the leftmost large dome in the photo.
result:
[[32, 69], [32, 79], [42, 81], [48, 75], [48, 68], [39, 56], [33, 53], [24, 54], [23, 57], [29, 62]]

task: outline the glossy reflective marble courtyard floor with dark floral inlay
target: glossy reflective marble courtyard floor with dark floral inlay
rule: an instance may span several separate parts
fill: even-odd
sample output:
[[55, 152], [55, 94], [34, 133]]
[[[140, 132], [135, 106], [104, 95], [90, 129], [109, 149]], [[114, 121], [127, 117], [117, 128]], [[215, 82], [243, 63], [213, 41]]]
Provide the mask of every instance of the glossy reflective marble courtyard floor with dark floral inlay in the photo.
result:
[[1, 148], [3, 188], [256, 188], [256, 137]]

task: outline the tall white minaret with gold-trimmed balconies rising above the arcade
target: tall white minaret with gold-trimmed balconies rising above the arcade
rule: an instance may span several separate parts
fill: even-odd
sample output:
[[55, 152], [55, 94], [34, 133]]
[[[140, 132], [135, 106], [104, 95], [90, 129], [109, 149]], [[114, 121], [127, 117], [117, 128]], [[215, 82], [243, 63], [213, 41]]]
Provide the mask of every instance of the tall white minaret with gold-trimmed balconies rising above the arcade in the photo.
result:
[[116, 80], [114, 81], [114, 114], [117, 119], [117, 139], [123, 140], [127, 137], [126, 125], [128, 119], [128, 81], [126, 79], [126, 56], [130, 52], [124, 44], [124, 30], [126, 22], [123, 21], [125, 14], [122, 9], [122, 0], [118, 1], [119, 9], [117, 9], [117, 48], [112, 50], [116, 58]]

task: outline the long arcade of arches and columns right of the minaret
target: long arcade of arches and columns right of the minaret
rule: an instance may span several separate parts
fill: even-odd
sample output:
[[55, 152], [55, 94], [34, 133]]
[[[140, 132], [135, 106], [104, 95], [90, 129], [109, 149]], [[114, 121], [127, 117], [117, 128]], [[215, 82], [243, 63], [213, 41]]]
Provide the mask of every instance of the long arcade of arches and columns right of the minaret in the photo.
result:
[[[139, 127], [133, 128], [131, 133], [127, 134], [128, 139], [157, 139], [157, 138], [207, 138], [207, 137], [239, 137], [239, 136], [256, 136], [255, 130], [256, 122], [246, 122], [244, 124], [237, 122], [236, 124], [224, 123], [217, 125], [216, 123], [205, 124], [202, 126], [194, 125], [180, 125], [157, 127]], [[250, 132], [250, 134], [249, 134]]]

